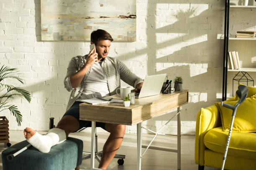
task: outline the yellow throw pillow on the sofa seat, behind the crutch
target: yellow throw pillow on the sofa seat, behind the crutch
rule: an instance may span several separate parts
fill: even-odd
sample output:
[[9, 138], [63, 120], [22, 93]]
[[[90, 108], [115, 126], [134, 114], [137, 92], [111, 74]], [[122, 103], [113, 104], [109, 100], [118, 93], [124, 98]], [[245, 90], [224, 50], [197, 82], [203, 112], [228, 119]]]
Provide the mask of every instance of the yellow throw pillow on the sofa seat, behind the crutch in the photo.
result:
[[[237, 101], [224, 101], [230, 105], [235, 105]], [[215, 102], [219, 111], [224, 131], [229, 131], [233, 110], [223, 107], [220, 102]], [[244, 102], [238, 106], [236, 117], [234, 119], [233, 131], [238, 132], [256, 132], [256, 96], [253, 95], [246, 98]]]

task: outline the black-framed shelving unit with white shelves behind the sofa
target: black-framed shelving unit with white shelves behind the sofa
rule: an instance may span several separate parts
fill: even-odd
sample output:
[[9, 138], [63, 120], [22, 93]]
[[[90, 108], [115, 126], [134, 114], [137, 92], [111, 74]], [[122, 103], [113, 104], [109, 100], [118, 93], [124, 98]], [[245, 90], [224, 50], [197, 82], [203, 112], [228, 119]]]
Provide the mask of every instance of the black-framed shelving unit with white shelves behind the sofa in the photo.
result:
[[[256, 52], [254, 48], [256, 47], [256, 38], [236, 38], [229, 35], [229, 10], [233, 8], [251, 8], [251, 10], [256, 10], [256, 6], [243, 6], [243, 5], [230, 5], [229, 0], [225, 0], [225, 28], [224, 28], [224, 37], [220, 37], [220, 39], [224, 39], [224, 51], [223, 51], [223, 92], [222, 92], [222, 100], [227, 99], [227, 77], [228, 72], [238, 72], [235, 77], [233, 77], [233, 85], [234, 81], [246, 81], [253, 82], [254, 80], [248, 74], [248, 72], [256, 72], [255, 61], [252, 61], [252, 57], [256, 56]], [[238, 30], [237, 30], [238, 31]], [[252, 41], [248, 41], [252, 40]], [[253, 49], [253, 50], [252, 50]], [[228, 51], [238, 51], [239, 60], [242, 61], [241, 69], [239, 70], [231, 70], [228, 69]], [[253, 63], [254, 62], [254, 63]], [[238, 75], [241, 77], [238, 78]]]

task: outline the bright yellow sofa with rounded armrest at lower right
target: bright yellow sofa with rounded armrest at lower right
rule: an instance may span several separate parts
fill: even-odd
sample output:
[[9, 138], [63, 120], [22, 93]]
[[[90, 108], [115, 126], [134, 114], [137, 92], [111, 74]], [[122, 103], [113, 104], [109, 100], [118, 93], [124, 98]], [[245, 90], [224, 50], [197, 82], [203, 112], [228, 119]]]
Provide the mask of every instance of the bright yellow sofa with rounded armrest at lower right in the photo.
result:
[[[228, 132], [223, 131], [218, 107], [201, 108], [195, 135], [198, 170], [203, 170], [204, 166], [221, 168], [227, 138]], [[232, 131], [224, 169], [256, 170], [256, 133]]]

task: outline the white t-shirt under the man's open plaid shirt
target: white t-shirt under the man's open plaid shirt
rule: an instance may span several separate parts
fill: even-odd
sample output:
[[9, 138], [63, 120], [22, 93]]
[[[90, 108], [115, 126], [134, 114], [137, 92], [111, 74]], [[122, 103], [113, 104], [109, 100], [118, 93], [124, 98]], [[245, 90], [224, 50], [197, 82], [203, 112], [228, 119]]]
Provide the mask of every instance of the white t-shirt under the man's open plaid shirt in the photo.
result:
[[108, 81], [101, 67], [102, 61], [96, 61], [85, 82], [85, 87], [78, 100], [90, 99], [93, 97], [109, 96]]

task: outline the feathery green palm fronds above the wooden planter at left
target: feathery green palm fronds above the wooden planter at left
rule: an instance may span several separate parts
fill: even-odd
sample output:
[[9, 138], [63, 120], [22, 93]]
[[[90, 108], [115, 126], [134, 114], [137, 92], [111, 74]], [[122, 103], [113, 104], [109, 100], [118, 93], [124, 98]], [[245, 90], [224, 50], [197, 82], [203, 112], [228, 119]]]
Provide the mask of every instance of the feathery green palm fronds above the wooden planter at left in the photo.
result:
[[5, 80], [8, 79], [18, 80], [24, 84], [24, 80], [18, 75], [19, 73], [17, 68], [10, 68], [5, 65], [0, 68], [0, 91], [3, 93], [0, 96], [0, 112], [7, 109], [10, 110], [10, 112], [16, 117], [18, 126], [20, 126], [20, 123], [22, 122], [22, 115], [20, 114], [20, 111], [16, 105], [8, 103], [9, 99], [13, 99], [14, 97], [23, 97], [28, 102], [30, 102], [31, 95], [27, 90], [24, 90], [23, 88], [5, 84]]

